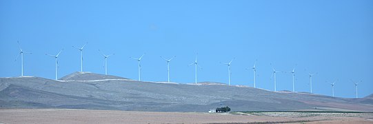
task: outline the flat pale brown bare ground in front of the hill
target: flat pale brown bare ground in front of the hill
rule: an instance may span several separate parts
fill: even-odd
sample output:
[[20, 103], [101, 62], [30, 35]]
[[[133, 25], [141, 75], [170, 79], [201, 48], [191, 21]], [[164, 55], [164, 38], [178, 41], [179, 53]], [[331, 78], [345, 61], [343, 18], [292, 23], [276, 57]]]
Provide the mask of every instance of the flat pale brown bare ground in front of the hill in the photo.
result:
[[132, 112], [113, 110], [5, 109], [0, 123], [373, 123], [371, 113]]

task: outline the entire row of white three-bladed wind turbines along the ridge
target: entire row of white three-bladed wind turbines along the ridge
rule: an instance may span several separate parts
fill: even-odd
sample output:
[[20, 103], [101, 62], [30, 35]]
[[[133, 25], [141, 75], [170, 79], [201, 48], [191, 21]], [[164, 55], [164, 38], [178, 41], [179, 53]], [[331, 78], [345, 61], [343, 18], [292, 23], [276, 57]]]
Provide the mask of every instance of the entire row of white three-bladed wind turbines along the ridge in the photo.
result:
[[[23, 53], [26, 53], [26, 54], [32, 54], [31, 52], [25, 52], [22, 50], [21, 48], [21, 44], [19, 43], [19, 41], [17, 41], [18, 45], [19, 45], [19, 49], [21, 52], [19, 52], [19, 54], [17, 55], [17, 58], [15, 59], [15, 61], [17, 61], [18, 57], [21, 56], [21, 76], [23, 76]], [[76, 48], [77, 50], [80, 50], [81, 52], [81, 72], [83, 72], [83, 49], [85, 48], [85, 45], [87, 45], [88, 43], [85, 43], [81, 48], [77, 48], [75, 47], [74, 45], [72, 45], [73, 48]], [[56, 80], [58, 80], [58, 57], [59, 57], [59, 54], [61, 54], [63, 50], [60, 50], [59, 53], [57, 55], [51, 55], [51, 54], [46, 54], [47, 56], [51, 56], [55, 59], [55, 63], [56, 63]], [[101, 52], [101, 50], [99, 50], [99, 52]], [[109, 55], [105, 55], [103, 54], [103, 52], [101, 52], [101, 54], [103, 55], [104, 57], [104, 60], [105, 60], [105, 75], [108, 75], [108, 63], [107, 63], [107, 59], [109, 56], [112, 56], [114, 54], [109, 54]], [[138, 72], [139, 72], [139, 81], [141, 81], [141, 59], [143, 58], [145, 54], [143, 54], [142, 56], [140, 56], [139, 58], [134, 58], [134, 57], [130, 57], [131, 59], [134, 59], [134, 60], [137, 60], [138, 61]], [[190, 63], [188, 66], [190, 65], [194, 65], [195, 67], [195, 83], [197, 83], [197, 70], [198, 68], [201, 68], [202, 67], [197, 63], [197, 56], [198, 54], [196, 55], [196, 59], [194, 61], [194, 63]], [[165, 59], [161, 56], [161, 58], [163, 60], [165, 60], [167, 62], [167, 70], [168, 70], [168, 82], [170, 82], [170, 61], [172, 59], [174, 59], [176, 56], [173, 56], [171, 59]], [[229, 63], [221, 63], [223, 65], [228, 65], [228, 85], [230, 85], [230, 74], [231, 74], [231, 70], [230, 70], [230, 65], [232, 63], [234, 59], [232, 59]], [[271, 64], [272, 65], [272, 64]], [[255, 78], [256, 78], [256, 61], [254, 63], [254, 66], [252, 67], [252, 70], [254, 72], [254, 87], [256, 87], [256, 81], [255, 81]], [[279, 71], [276, 71], [274, 70], [274, 68], [272, 67], [272, 70], [273, 70], [273, 73], [272, 73], [272, 76], [274, 77], [274, 92], [276, 92], [276, 72], [279, 72]], [[294, 77], [295, 77], [295, 68], [293, 68], [293, 70], [291, 72], [284, 72], [284, 73], [292, 73], [292, 92], [295, 92], [295, 83], [294, 83]], [[272, 76], [271, 76], [271, 79], [272, 79]], [[310, 93], [312, 93], [312, 76], [314, 76], [314, 74], [309, 74], [310, 76]], [[352, 81], [355, 85], [355, 88], [356, 88], [356, 98], [358, 98], [357, 96], [357, 85], [358, 83]], [[332, 96], [334, 96], [334, 85], [335, 85], [336, 81], [334, 81], [334, 83], [330, 83], [330, 85], [332, 85]]]

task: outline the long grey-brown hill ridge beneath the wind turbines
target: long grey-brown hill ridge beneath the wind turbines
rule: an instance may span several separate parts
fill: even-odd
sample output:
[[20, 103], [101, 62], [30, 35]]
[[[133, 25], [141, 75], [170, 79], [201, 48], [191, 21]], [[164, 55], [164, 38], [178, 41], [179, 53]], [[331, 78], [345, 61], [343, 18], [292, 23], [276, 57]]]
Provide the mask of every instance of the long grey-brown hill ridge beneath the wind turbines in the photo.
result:
[[132, 81], [76, 72], [61, 81], [39, 77], [0, 78], [1, 108], [72, 108], [161, 112], [336, 110], [373, 112], [371, 99], [271, 92], [221, 83], [178, 84]]

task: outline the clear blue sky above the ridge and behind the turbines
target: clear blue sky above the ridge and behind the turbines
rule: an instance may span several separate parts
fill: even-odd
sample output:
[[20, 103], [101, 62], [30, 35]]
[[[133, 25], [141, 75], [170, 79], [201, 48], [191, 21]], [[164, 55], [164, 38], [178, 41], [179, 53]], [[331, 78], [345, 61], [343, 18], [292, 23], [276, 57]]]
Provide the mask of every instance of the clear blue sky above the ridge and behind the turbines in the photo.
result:
[[[24, 73], [54, 79], [80, 71], [79, 50], [88, 42], [84, 71], [137, 79], [139, 57], [145, 81], [167, 81], [167, 66], [159, 56], [177, 56], [170, 63], [171, 81], [194, 82], [199, 54], [199, 81], [253, 85], [250, 68], [257, 59], [256, 85], [273, 90], [272, 68], [291, 71], [296, 65], [296, 91], [331, 95], [326, 81], [338, 79], [335, 95], [359, 97], [373, 93], [373, 1], [0, 1], [0, 76], [20, 76], [14, 61], [21, 42]], [[292, 75], [277, 73], [277, 90], [292, 90]]]

